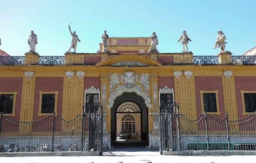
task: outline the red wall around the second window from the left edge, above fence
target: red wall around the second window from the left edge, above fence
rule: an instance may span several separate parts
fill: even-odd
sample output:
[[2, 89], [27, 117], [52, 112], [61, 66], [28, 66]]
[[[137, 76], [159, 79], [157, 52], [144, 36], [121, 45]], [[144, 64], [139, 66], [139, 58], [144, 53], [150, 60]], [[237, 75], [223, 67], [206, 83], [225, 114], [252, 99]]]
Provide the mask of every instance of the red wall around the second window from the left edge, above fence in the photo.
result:
[[36, 77], [34, 113], [33, 113], [34, 120], [42, 118], [42, 117], [38, 117], [39, 101], [40, 101], [39, 91], [44, 91], [44, 92], [58, 91], [57, 113], [62, 114], [63, 77]]

